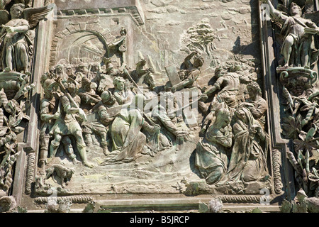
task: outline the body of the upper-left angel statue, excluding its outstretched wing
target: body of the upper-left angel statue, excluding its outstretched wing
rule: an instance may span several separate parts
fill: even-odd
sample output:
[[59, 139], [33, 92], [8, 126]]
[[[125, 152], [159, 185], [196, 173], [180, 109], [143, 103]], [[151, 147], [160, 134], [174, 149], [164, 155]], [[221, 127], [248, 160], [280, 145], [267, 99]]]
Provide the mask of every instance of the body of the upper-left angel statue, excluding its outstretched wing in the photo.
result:
[[28, 73], [29, 56], [33, 44], [29, 36], [29, 23], [22, 18], [24, 4], [13, 4], [10, 10], [11, 20], [2, 26], [0, 37], [2, 69]]

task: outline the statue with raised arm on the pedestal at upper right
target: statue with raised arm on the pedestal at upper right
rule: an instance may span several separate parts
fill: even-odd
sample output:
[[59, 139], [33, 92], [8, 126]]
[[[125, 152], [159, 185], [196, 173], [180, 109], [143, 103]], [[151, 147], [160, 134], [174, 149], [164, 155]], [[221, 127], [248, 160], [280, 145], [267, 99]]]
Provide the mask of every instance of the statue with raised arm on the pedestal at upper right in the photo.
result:
[[319, 34], [319, 28], [313, 21], [302, 17], [301, 7], [295, 3], [291, 3], [290, 6], [291, 16], [286, 16], [274, 9], [270, 0], [262, 2], [269, 5], [272, 18], [283, 25], [281, 34], [284, 35], [284, 43], [281, 46], [281, 54], [284, 55], [284, 67], [290, 65], [310, 67], [312, 36]]

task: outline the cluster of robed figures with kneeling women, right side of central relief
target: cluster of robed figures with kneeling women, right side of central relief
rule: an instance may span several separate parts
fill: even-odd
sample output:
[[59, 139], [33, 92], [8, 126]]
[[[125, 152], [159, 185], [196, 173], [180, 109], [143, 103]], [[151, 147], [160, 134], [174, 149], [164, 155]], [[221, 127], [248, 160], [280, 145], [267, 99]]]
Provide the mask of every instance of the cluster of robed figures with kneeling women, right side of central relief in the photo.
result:
[[[240, 74], [238, 66], [218, 67], [215, 74], [216, 82], [203, 92], [217, 93], [203, 123], [195, 165], [206, 182], [216, 186], [266, 182], [269, 135], [264, 130], [267, 101], [262, 90], [252, 77]], [[240, 85], [246, 95], [240, 94]]]

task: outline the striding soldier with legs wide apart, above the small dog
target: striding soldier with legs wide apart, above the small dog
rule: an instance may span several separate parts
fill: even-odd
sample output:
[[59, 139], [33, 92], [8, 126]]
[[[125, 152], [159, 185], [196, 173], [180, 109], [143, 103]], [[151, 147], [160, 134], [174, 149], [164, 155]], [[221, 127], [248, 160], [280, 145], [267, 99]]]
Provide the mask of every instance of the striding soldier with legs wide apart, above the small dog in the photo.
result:
[[86, 119], [84, 118], [84, 111], [79, 108], [81, 99], [77, 95], [77, 83], [73, 79], [69, 78], [67, 80], [67, 90], [65, 92], [65, 95], [60, 99], [60, 118], [57, 118], [50, 132], [54, 135], [54, 139], [50, 144], [50, 160], [55, 157], [62, 137], [73, 135], [83, 164], [87, 167], [93, 167], [86, 158], [86, 145], [82, 135], [82, 128], [78, 122]]

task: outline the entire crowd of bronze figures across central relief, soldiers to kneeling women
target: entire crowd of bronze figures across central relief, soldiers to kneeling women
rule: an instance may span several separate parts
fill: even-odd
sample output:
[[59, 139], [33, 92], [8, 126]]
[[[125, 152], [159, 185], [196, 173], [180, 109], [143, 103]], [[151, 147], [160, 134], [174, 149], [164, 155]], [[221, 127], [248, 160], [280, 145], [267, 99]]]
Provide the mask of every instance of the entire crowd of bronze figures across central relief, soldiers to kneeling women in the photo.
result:
[[191, 90], [198, 96], [189, 103], [198, 104], [204, 116], [201, 130], [195, 132], [201, 135], [195, 160], [200, 177], [208, 184], [269, 179], [267, 101], [252, 78], [254, 70], [236, 62], [225, 64], [216, 68], [213, 86], [201, 88], [197, 79], [204, 60], [195, 51], [182, 62], [179, 82], [156, 86], [155, 70], [145, 63], [140, 60], [135, 69], [113, 67], [104, 57], [103, 62], [58, 64], [43, 74], [40, 166], [50, 163], [61, 146], [74, 164], [76, 149], [83, 164], [94, 167], [86, 157], [92, 135], [106, 155], [99, 165], [132, 162], [141, 154], [154, 156], [191, 140], [194, 130], [184, 122], [185, 114], [172, 111], [190, 106], [180, 104], [177, 94]]

